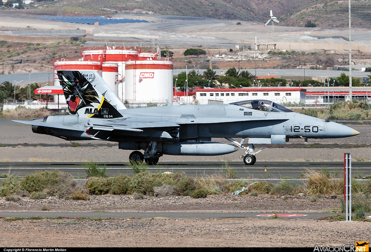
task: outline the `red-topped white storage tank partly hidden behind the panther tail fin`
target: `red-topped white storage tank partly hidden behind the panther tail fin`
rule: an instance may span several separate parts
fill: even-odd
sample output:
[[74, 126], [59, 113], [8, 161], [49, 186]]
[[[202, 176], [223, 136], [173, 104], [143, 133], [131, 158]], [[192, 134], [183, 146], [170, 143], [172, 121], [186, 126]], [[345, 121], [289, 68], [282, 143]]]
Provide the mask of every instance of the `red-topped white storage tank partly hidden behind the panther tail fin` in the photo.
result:
[[[57, 75], [58, 70], [94, 70], [102, 76], [102, 63], [99, 61], [84, 61], [84, 60], [61, 60], [53, 63], [53, 72], [54, 72], [54, 86], [60, 86], [59, 78]], [[55, 95], [54, 101], [58, 97]], [[63, 95], [59, 97], [59, 102], [66, 102], [66, 99]]]

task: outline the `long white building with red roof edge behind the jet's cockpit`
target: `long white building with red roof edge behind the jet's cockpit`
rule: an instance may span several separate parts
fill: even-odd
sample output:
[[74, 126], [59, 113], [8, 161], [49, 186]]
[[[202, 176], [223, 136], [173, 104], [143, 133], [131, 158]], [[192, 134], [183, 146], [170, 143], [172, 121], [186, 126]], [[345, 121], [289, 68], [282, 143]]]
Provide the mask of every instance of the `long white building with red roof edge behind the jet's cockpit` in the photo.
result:
[[196, 100], [208, 104], [209, 100], [223, 101], [224, 104], [246, 100], [269, 100], [278, 104], [305, 103], [303, 88], [233, 88], [233, 89], [196, 89]]

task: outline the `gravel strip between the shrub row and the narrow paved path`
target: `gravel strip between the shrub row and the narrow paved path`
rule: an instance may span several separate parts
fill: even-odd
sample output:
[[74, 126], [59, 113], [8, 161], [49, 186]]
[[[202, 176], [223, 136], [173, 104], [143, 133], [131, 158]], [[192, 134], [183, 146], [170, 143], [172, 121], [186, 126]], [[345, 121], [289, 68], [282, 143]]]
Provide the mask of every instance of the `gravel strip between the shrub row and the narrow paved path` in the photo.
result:
[[[324, 212], [341, 210], [341, 196], [336, 199], [319, 197], [311, 202], [311, 197], [299, 196], [230, 196], [209, 195], [193, 199], [190, 196], [154, 197], [133, 199], [131, 195], [91, 195], [90, 200], [65, 200], [57, 197], [32, 200], [23, 197], [18, 202], [9, 202], [0, 197], [0, 211], [41, 211], [47, 206], [54, 212]], [[1, 216], [1, 213], [0, 213]]]

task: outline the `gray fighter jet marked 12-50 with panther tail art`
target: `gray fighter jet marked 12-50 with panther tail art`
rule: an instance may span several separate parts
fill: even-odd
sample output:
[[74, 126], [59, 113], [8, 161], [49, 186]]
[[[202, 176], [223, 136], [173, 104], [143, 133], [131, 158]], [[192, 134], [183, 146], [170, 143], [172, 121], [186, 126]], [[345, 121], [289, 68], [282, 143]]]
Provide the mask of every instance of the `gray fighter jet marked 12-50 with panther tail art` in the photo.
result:
[[[253, 165], [256, 154], [262, 151], [255, 152], [254, 144], [359, 134], [347, 126], [298, 114], [265, 100], [126, 109], [94, 71], [58, 71], [58, 78], [70, 115], [14, 121], [32, 125], [35, 133], [68, 141], [118, 142], [120, 149], [133, 150], [129, 155], [131, 163], [145, 161], [153, 165], [164, 154], [217, 156], [242, 148], [244, 163]], [[233, 140], [235, 137], [242, 141]], [[226, 138], [235, 146], [211, 142], [211, 138]]]

